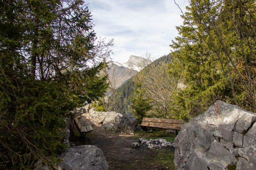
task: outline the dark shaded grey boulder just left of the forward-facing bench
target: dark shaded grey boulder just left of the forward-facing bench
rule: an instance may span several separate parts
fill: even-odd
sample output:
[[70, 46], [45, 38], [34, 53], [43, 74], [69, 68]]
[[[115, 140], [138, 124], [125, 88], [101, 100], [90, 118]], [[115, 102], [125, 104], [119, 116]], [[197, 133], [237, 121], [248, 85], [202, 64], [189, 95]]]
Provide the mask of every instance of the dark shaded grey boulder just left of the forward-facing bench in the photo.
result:
[[137, 119], [133, 114], [126, 113], [121, 118], [121, 121], [118, 125], [118, 128], [121, 131], [126, 131], [126, 132], [134, 131], [135, 126], [136, 126], [136, 122], [137, 122]]

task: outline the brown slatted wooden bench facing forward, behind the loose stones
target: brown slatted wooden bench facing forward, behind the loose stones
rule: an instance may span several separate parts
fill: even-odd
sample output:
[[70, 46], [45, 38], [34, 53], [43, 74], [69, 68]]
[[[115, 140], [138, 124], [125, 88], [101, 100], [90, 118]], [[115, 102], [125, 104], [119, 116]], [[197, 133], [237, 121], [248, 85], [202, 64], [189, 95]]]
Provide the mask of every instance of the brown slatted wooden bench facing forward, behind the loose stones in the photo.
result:
[[181, 130], [181, 126], [184, 123], [183, 120], [176, 119], [157, 119], [143, 117], [141, 122], [141, 127], [145, 127], [145, 132], [147, 133], [147, 127], [160, 128], [160, 129], [174, 129], [176, 130], [176, 135], [178, 135], [178, 130]]

